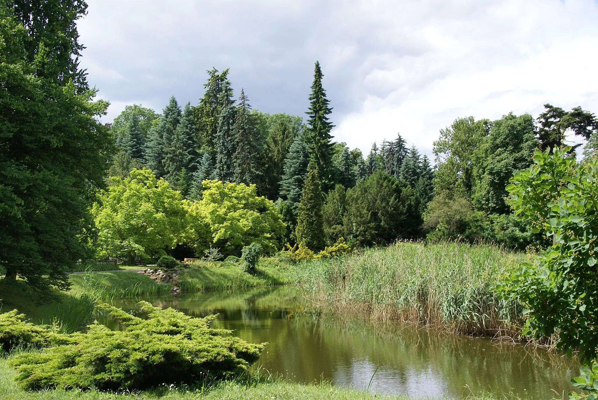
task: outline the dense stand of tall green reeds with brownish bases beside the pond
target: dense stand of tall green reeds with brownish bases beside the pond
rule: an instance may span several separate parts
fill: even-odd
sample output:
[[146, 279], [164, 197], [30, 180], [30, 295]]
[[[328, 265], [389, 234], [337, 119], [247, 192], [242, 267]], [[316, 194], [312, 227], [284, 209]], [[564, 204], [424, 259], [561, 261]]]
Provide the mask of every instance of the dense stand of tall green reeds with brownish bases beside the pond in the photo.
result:
[[500, 300], [500, 276], [529, 255], [495, 246], [398, 243], [298, 265], [291, 280], [339, 310], [370, 312], [462, 334], [517, 335], [517, 304]]

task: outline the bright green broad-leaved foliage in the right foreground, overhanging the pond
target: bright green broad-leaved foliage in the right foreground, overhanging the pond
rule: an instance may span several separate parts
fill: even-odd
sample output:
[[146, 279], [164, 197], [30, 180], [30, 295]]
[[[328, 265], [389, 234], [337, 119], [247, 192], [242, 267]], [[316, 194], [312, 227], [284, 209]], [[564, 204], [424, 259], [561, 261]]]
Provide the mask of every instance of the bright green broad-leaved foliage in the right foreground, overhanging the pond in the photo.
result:
[[[524, 334], [556, 334], [557, 349], [568, 356], [578, 350], [590, 367], [598, 352], [598, 163], [578, 164], [570, 150], [536, 151], [534, 164], [511, 179], [508, 201], [518, 218], [553, 244], [535, 262], [521, 264], [501, 288], [526, 306]], [[591, 386], [578, 387], [596, 396]]]

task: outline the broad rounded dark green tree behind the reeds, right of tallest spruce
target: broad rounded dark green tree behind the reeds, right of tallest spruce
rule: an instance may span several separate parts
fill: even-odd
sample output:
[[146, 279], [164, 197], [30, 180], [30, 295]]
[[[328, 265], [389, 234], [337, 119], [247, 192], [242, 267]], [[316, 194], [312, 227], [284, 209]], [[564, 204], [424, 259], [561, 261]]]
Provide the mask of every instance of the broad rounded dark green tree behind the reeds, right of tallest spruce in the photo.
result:
[[421, 224], [414, 190], [378, 170], [346, 193], [344, 238], [369, 246], [412, 239]]

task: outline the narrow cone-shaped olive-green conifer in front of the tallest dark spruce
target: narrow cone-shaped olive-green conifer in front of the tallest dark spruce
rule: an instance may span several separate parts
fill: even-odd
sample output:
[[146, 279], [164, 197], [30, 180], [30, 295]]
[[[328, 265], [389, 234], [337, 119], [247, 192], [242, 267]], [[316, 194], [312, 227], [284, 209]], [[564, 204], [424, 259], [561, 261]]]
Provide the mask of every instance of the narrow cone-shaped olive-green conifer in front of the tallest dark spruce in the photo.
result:
[[303, 194], [297, 210], [297, 243], [312, 251], [324, 249], [324, 218], [322, 216], [322, 190], [315, 161], [310, 161], [303, 184]]

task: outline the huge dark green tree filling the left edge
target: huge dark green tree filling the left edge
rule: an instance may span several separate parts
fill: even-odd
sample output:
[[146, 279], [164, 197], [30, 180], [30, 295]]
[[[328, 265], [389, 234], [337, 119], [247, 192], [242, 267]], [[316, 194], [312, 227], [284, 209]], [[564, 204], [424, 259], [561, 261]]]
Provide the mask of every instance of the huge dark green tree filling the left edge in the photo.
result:
[[0, 8], [0, 268], [7, 280], [68, 288], [114, 151], [97, 120], [108, 103], [93, 101], [78, 69], [86, 4], [10, 5]]

